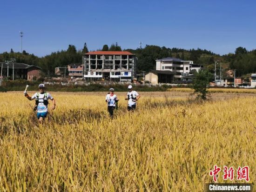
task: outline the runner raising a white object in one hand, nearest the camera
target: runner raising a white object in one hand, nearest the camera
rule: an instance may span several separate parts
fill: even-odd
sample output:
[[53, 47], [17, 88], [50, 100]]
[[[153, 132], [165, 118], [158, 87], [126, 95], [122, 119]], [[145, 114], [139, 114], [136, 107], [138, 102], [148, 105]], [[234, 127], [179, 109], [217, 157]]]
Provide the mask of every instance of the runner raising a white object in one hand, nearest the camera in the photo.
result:
[[39, 93], [34, 93], [32, 97], [29, 97], [27, 93], [25, 93], [25, 97], [29, 100], [35, 99], [35, 110], [37, 110], [37, 119], [39, 119], [39, 122], [42, 123], [44, 118], [47, 117], [48, 113], [48, 99], [51, 99], [53, 101], [53, 107], [52, 109], [55, 109], [55, 100], [51, 96], [50, 93], [45, 92], [45, 85], [40, 84], [39, 86]]

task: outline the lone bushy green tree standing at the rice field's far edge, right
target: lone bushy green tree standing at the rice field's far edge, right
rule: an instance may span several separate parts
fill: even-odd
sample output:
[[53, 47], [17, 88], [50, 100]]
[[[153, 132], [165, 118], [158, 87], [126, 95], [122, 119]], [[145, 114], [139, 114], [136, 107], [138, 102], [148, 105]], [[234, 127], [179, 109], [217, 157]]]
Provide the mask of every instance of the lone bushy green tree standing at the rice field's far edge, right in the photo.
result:
[[213, 74], [208, 70], [199, 70], [199, 72], [194, 73], [195, 78], [193, 79], [192, 88], [194, 93], [197, 94], [197, 97], [201, 99], [206, 99], [209, 82], [213, 78]]

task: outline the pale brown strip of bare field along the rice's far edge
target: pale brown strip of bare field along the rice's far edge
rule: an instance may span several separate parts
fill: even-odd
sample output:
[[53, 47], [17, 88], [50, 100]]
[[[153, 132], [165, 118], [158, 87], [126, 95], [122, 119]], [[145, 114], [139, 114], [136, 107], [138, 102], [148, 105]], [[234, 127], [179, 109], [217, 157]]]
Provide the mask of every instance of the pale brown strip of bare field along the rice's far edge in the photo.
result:
[[[8, 92], [12, 93], [12, 92]], [[13, 92], [18, 94], [23, 94], [23, 92]], [[51, 92], [54, 96], [56, 94], [65, 94], [65, 95], [97, 95], [105, 97], [107, 92]], [[31, 94], [31, 93], [29, 93]], [[33, 92], [34, 94], [34, 92]], [[115, 92], [118, 97], [125, 97], [127, 92]], [[171, 97], [171, 98], [193, 98], [195, 96], [190, 96], [189, 92], [139, 92], [143, 97]], [[252, 93], [210, 93], [210, 99], [213, 100], [225, 100], [232, 98], [243, 98], [243, 97], [256, 97], [256, 94]]]

